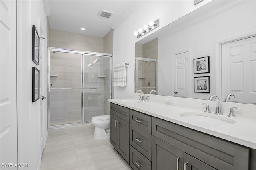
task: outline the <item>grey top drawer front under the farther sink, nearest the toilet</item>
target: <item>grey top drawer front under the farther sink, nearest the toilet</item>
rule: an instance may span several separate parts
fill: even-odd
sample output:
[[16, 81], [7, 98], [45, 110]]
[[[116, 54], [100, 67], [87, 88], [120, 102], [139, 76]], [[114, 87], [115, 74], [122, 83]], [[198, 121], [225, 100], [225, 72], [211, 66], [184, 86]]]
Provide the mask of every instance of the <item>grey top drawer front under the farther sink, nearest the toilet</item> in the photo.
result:
[[110, 103], [110, 113], [113, 113], [114, 115], [120, 117], [121, 119], [129, 122], [130, 109], [126, 107], [119, 106], [114, 103]]

